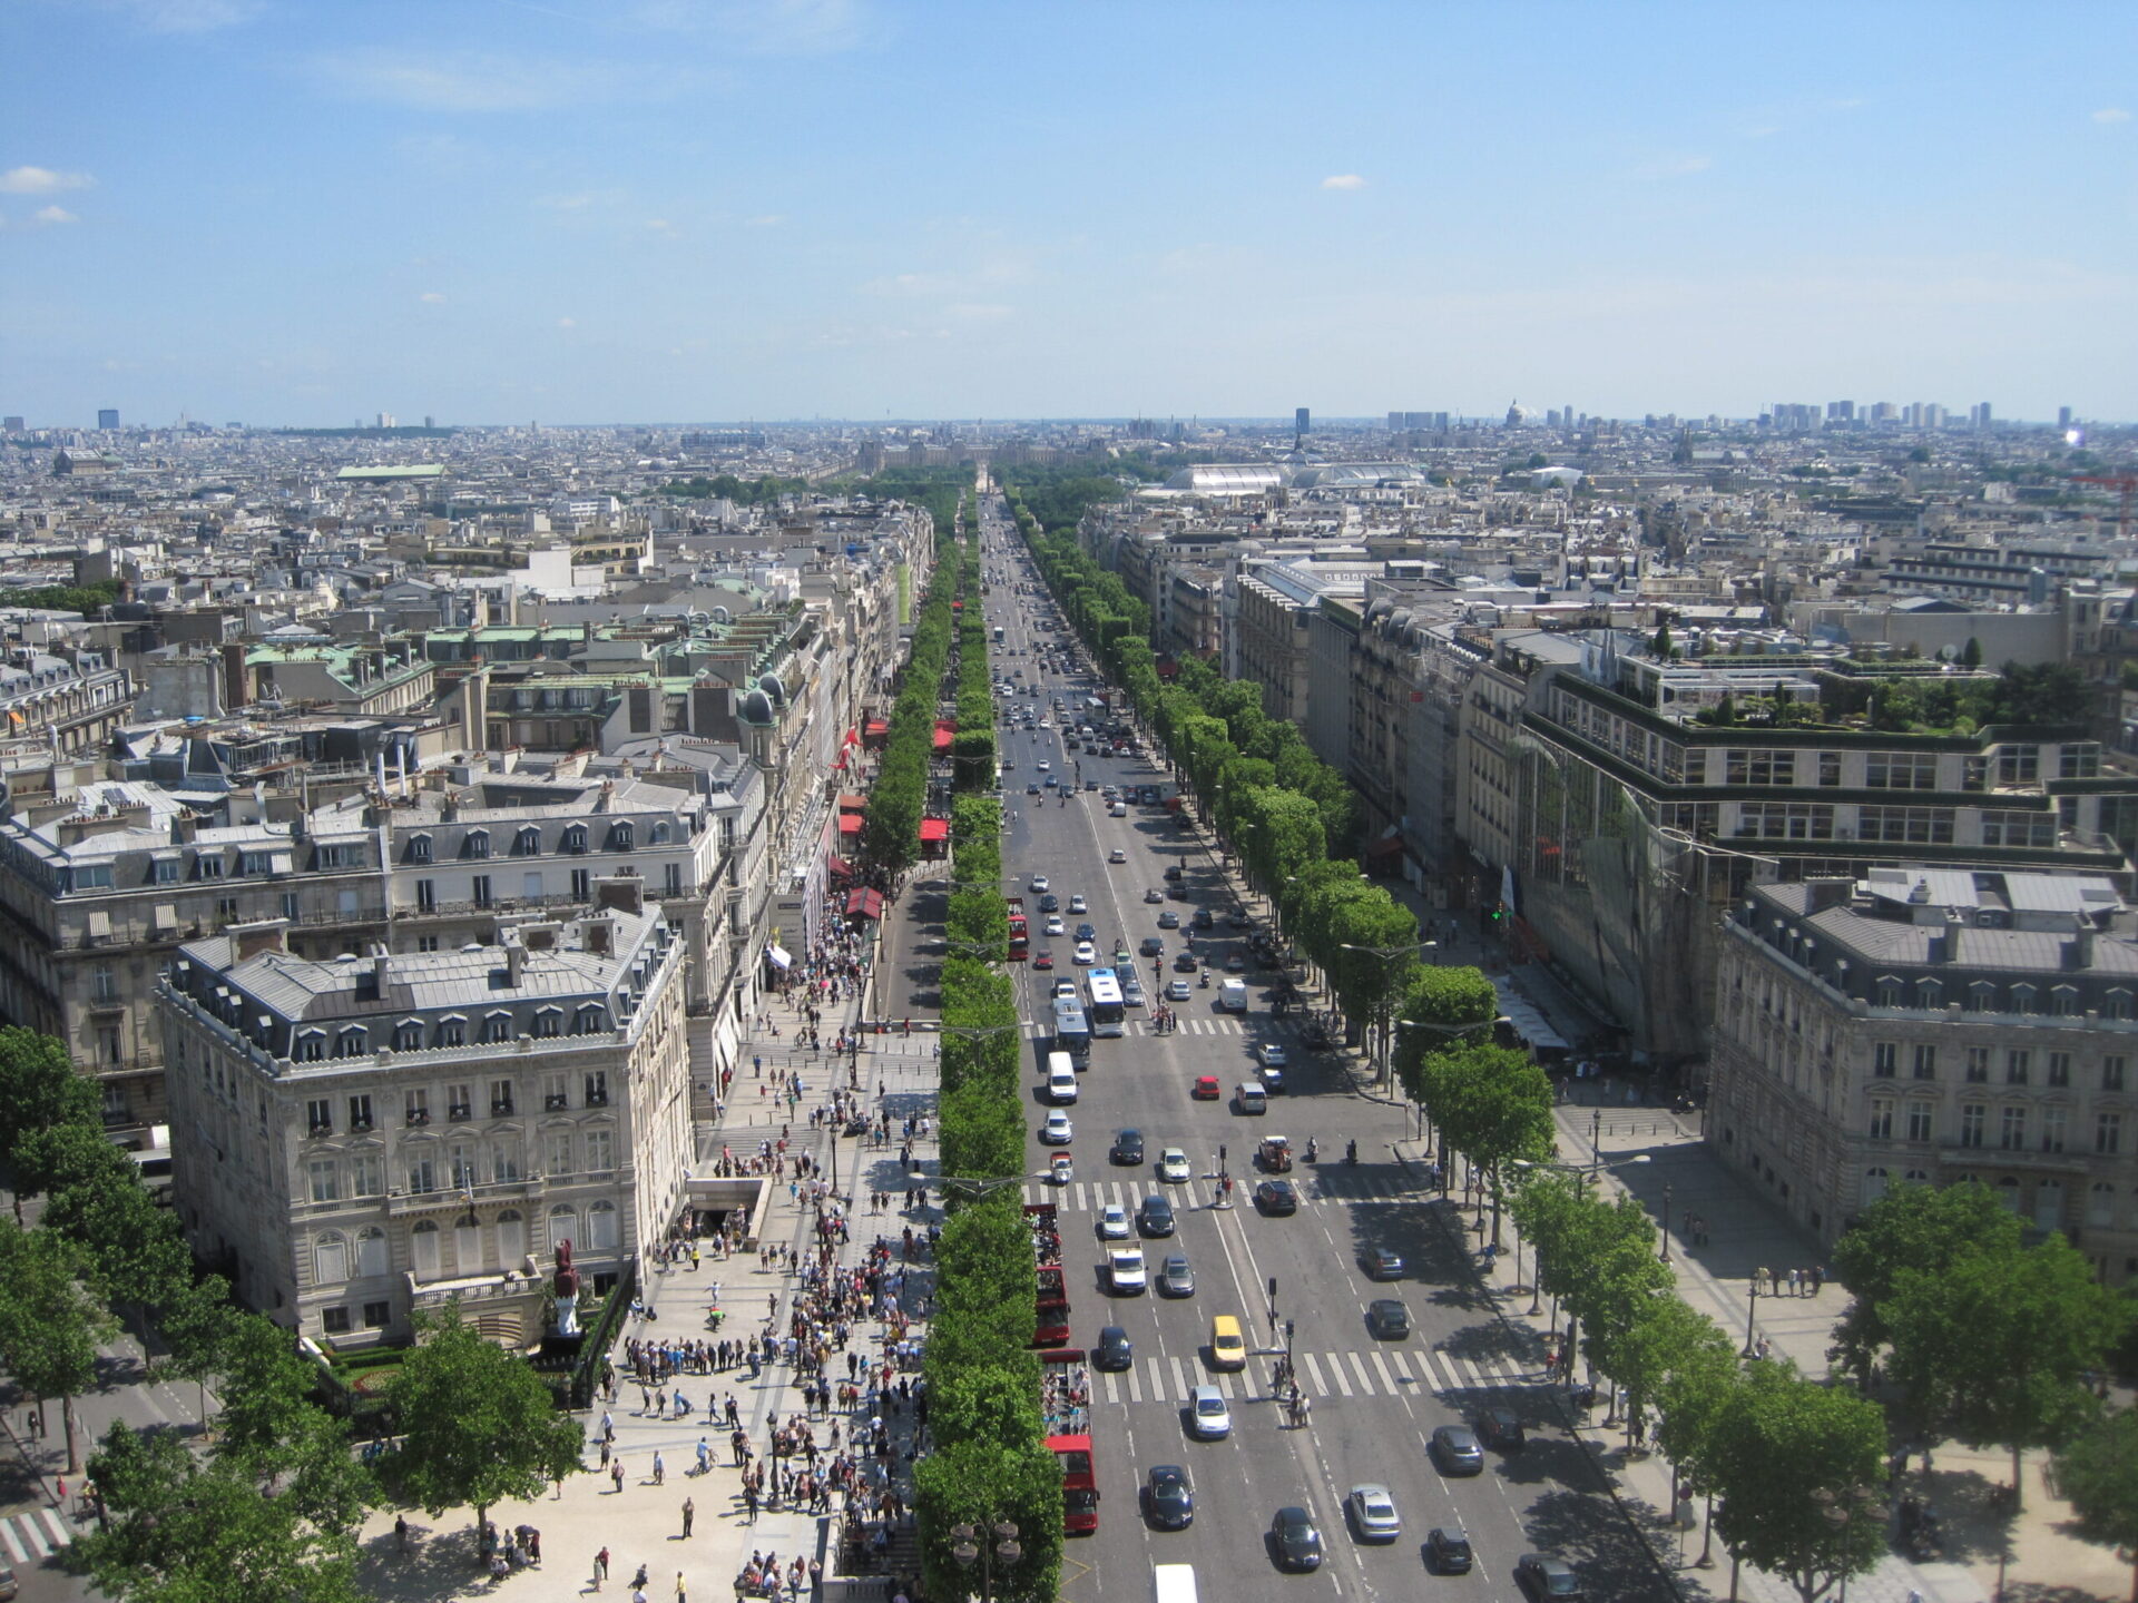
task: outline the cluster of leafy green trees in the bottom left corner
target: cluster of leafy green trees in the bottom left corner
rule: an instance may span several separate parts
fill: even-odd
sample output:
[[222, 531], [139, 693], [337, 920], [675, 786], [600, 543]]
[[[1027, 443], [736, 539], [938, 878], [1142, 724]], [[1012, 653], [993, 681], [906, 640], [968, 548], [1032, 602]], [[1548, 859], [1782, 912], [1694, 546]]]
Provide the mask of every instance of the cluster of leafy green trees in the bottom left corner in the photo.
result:
[[[361, 1462], [295, 1334], [199, 1272], [98, 1107], [60, 1041], [0, 1030], [0, 1161], [17, 1195], [17, 1218], [0, 1218], [0, 1364], [38, 1406], [60, 1402], [77, 1475], [75, 1398], [98, 1385], [124, 1312], [156, 1374], [199, 1385], [210, 1430], [188, 1443], [115, 1423], [88, 1458], [103, 1520], [73, 1552], [105, 1597], [359, 1603], [357, 1537], [385, 1500], [481, 1515], [579, 1468], [579, 1423], [455, 1308], [387, 1387], [393, 1449]], [[24, 1201], [43, 1203], [32, 1227]]]

